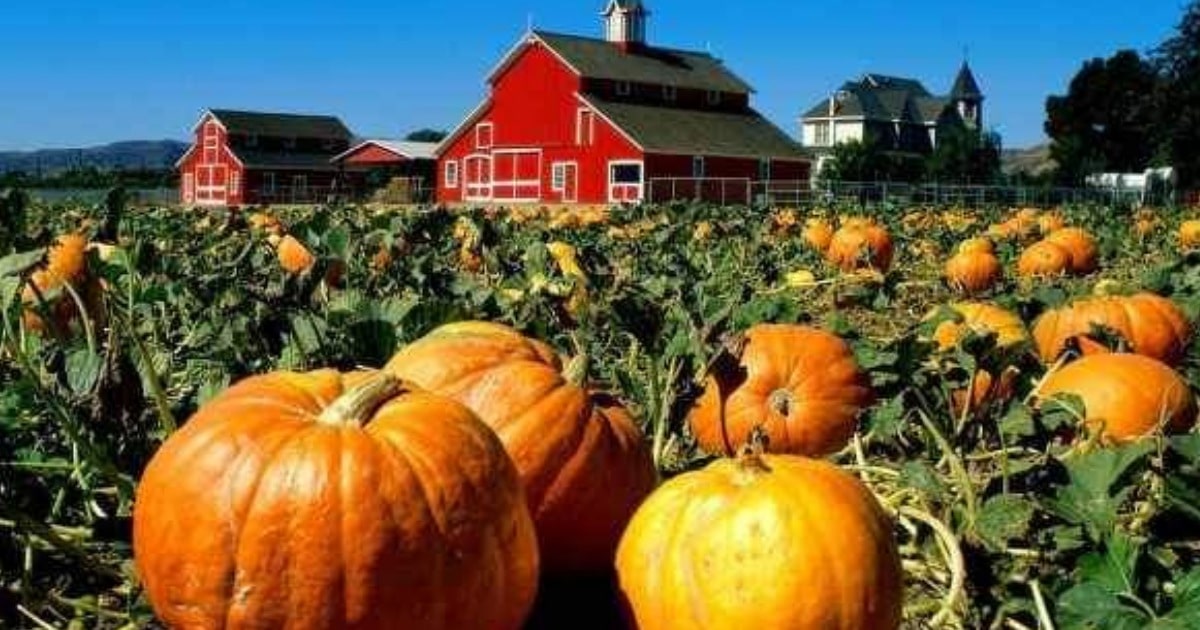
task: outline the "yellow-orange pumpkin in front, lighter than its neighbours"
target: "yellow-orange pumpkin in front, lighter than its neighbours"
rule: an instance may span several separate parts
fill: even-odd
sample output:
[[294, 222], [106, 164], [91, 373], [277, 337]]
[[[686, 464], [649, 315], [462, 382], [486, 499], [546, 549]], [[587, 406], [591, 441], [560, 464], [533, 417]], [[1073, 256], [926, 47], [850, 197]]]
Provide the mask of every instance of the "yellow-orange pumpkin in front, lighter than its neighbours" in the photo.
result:
[[617, 578], [637, 630], [894, 630], [893, 524], [835, 466], [718, 460], [662, 485], [622, 536]]

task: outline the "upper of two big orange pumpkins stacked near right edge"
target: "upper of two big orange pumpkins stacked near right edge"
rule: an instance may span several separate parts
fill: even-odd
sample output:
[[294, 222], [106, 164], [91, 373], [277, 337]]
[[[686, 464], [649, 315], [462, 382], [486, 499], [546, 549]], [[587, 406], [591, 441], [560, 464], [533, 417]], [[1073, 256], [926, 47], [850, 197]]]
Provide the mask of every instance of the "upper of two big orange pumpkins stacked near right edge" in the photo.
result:
[[1192, 342], [1187, 316], [1166, 298], [1152, 293], [1097, 296], [1048, 311], [1038, 318], [1033, 337], [1042, 360], [1057, 360], [1072, 340], [1079, 342], [1085, 354], [1108, 352], [1088, 338], [1093, 324], [1118, 332], [1129, 342], [1132, 352], [1168, 365], [1178, 365]]

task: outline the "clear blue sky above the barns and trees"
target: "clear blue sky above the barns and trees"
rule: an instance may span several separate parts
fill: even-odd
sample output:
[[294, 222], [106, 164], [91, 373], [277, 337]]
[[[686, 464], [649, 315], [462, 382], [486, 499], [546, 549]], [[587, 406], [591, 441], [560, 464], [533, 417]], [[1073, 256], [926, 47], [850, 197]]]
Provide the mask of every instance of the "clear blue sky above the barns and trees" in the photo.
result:
[[[596, 35], [602, 0], [37, 0], [0, 18], [0, 150], [180, 138], [206, 107], [340, 115], [362, 136], [452, 127], [533, 19]], [[1080, 64], [1170, 35], [1184, 0], [649, 0], [649, 37], [709, 49], [790, 133], [866, 71], [949, 89], [964, 48], [1009, 146]], [[1084, 8], [1086, 7], [1086, 8]]]

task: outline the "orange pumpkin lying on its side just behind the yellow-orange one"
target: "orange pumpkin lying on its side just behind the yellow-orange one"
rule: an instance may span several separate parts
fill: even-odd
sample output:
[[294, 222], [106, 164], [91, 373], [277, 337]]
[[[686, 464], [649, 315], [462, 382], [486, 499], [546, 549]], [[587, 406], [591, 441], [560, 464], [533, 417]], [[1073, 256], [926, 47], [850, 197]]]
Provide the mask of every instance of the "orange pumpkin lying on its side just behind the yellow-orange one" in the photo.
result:
[[688, 414], [712, 454], [737, 454], [762, 427], [770, 452], [829, 455], [846, 446], [858, 414], [874, 401], [850, 346], [815, 328], [754, 326], [737, 362], [708, 376]]

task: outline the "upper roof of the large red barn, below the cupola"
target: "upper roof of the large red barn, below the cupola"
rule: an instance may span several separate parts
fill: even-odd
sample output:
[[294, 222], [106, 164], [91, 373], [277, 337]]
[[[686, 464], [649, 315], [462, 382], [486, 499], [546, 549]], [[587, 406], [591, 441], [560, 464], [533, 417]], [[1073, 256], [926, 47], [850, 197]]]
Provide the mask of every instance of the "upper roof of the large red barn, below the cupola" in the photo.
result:
[[[534, 31], [530, 37], [541, 41], [586, 78], [737, 94], [754, 91], [726, 68], [721, 60], [708, 53], [649, 46], [622, 50], [605, 40], [547, 31]], [[521, 48], [523, 47], [518, 47], [517, 52]], [[510, 54], [510, 59], [500, 65], [493, 77], [508, 66], [517, 52]]]

